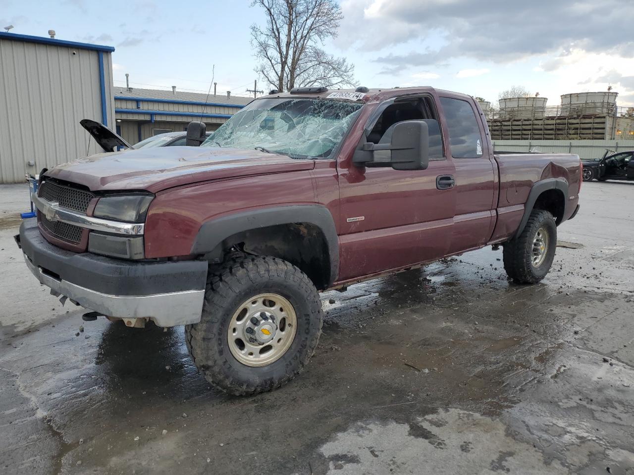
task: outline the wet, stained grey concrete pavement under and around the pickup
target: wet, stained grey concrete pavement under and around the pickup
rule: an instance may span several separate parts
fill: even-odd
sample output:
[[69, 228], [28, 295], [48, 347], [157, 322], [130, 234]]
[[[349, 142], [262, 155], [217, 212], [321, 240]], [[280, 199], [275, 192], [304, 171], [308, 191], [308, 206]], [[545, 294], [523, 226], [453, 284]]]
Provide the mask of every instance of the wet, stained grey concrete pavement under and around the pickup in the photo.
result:
[[0, 214], [0, 472], [634, 474], [634, 184], [582, 196], [541, 284], [489, 248], [326, 293], [306, 371], [248, 398], [181, 327], [62, 308]]

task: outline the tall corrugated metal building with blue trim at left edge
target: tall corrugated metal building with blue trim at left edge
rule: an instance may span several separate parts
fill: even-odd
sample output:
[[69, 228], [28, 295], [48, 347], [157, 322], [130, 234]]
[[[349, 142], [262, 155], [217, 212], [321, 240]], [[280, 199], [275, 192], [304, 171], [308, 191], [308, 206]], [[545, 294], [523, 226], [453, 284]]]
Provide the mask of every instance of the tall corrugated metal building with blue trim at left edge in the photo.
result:
[[113, 127], [112, 51], [0, 33], [0, 183], [101, 151], [79, 121]]

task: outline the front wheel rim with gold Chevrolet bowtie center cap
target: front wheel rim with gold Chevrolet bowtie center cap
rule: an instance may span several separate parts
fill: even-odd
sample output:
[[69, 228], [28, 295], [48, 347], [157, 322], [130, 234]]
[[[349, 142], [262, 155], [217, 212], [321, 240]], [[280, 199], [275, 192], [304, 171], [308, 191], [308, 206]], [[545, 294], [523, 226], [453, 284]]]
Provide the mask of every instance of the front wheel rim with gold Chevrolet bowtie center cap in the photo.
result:
[[260, 294], [245, 300], [231, 317], [227, 339], [231, 354], [247, 366], [264, 366], [290, 348], [297, 315], [278, 294]]

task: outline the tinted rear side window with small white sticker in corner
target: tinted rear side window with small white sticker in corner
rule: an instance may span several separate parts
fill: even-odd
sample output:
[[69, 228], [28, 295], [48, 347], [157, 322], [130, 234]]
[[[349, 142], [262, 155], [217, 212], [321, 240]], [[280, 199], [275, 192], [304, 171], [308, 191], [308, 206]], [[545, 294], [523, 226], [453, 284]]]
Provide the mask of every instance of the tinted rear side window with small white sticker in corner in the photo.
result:
[[440, 98], [447, 121], [451, 156], [453, 158], [479, 158], [482, 156], [482, 136], [477, 117], [467, 101]]

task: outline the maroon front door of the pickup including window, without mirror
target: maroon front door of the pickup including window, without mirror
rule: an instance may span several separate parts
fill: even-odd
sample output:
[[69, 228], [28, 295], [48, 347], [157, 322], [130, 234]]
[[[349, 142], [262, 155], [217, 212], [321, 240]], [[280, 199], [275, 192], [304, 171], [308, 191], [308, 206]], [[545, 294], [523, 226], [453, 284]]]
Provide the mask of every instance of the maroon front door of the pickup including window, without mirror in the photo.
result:
[[[383, 143], [385, 132], [397, 122], [436, 119], [433, 104], [430, 98], [394, 103], [368, 125], [372, 132], [366, 139]], [[444, 154], [440, 129], [432, 129], [426, 170], [338, 163], [340, 281], [436, 260], [448, 252], [456, 191], [437, 186], [437, 179], [453, 178], [455, 168]]]

